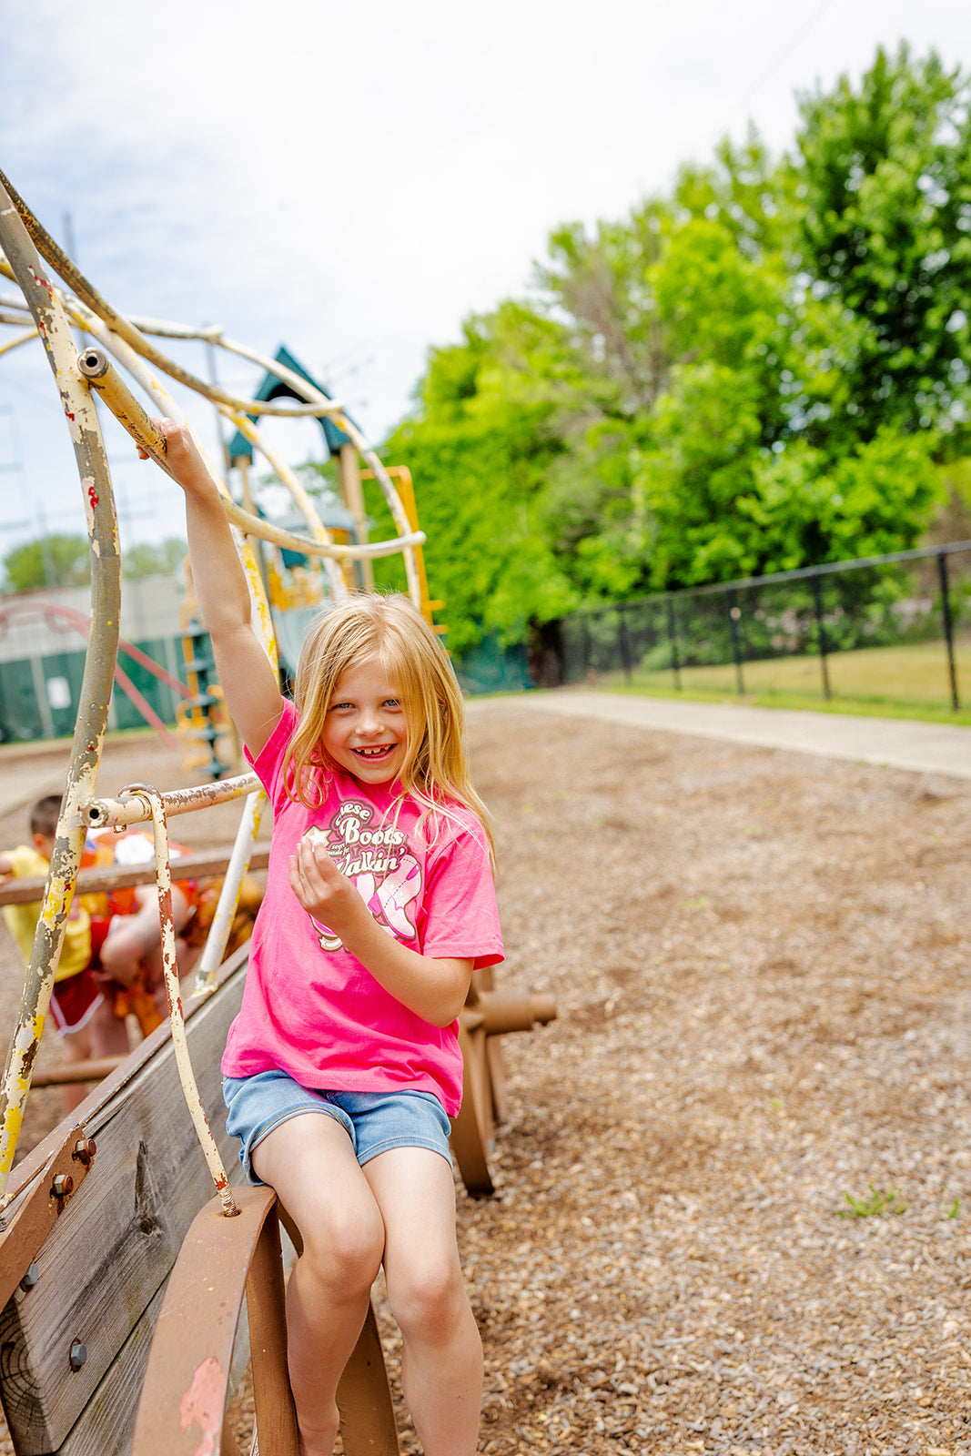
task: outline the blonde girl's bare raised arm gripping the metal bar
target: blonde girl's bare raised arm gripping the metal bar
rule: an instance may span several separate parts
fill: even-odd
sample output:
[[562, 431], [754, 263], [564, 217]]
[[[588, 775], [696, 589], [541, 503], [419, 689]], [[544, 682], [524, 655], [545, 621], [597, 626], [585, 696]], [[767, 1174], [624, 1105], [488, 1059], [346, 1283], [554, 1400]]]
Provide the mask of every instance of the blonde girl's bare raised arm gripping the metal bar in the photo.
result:
[[252, 626], [246, 572], [215, 480], [188, 430], [172, 419], [157, 424], [167, 466], [185, 494], [192, 584], [226, 706], [256, 756], [280, 722], [280, 681]]

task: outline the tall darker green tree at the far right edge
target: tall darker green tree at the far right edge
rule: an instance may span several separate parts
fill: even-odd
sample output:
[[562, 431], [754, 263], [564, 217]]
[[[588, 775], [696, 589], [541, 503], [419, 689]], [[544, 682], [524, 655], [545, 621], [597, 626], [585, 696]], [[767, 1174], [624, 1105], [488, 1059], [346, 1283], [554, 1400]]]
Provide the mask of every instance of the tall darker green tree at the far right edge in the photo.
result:
[[970, 99], [958, 70], [901, 45], [859, 86], [843, 76], [801, 100], [799, 266], [862, 326], [844, 409], [865, 440], [967, 419]]

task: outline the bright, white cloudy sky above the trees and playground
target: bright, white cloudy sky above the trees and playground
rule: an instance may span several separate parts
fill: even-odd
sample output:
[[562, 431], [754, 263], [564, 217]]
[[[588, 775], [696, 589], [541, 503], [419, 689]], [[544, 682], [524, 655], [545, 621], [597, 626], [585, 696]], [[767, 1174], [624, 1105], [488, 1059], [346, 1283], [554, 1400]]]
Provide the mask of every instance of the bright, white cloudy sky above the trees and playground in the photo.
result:
[[[785, 150], [798, 95], [901, 39], [971, 70], [971, 4], [0, 0], [0, 169], [115, 307], [287, 344], [377, 443], [553, 227], [623, 217], [750, 121]], [[301, 431], [291, 457], [320, 456]], [[122, 546], [181, 533], [173, 488], [106, 438]], [[0, 556], [84, 530], [36, 344], [0, 355]]]

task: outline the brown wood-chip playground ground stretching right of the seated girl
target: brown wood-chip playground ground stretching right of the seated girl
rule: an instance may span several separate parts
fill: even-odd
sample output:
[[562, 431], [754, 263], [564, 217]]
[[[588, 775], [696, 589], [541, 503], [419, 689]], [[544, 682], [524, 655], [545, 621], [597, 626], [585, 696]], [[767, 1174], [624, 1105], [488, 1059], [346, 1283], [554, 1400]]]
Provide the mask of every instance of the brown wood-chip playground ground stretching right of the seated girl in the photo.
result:
[[472, 741], [502, 980], [560, 1013], [460, 1192], [482, 1453], [971, 1453], [971, 783], [498, 703]]

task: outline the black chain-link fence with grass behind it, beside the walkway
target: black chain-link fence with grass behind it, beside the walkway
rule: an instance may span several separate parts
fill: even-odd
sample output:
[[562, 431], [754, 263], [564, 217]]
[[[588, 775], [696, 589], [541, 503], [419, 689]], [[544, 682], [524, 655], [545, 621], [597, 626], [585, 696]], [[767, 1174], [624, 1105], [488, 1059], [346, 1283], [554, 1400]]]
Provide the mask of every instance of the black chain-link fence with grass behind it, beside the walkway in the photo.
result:
[[971, 673], [971, 542], [600, 607], [547, 625], [544, 648], [537, 686], [619, 674], [646, 689], [958, 711]]

